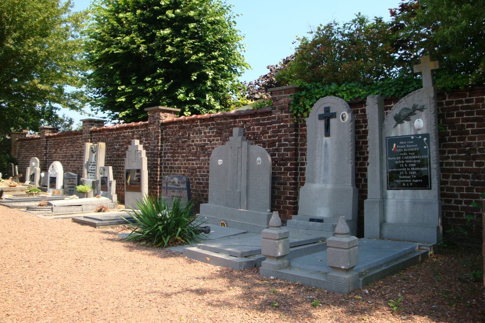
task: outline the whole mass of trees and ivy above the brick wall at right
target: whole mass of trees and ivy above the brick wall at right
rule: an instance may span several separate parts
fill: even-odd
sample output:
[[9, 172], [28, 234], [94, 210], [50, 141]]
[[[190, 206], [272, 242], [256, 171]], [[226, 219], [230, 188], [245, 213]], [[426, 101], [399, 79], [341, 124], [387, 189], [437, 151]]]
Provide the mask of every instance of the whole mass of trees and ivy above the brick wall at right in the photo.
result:
[[[485, 0], [406, 0], [391, 19], [356, 15], [320, 25], [297, 38], [295, 53], [246, 88], [247, 98], [275, 85], [294, 84], [292, 110], [305, 116], [322, 96], [346, 100], [371, 94], [403, 96], [421, 87], [412, 66], [430, 55], [440, 62], [435, 86], [443, 90], [485, 82]], [[268, 85], [268, 86], [267, 86]]]

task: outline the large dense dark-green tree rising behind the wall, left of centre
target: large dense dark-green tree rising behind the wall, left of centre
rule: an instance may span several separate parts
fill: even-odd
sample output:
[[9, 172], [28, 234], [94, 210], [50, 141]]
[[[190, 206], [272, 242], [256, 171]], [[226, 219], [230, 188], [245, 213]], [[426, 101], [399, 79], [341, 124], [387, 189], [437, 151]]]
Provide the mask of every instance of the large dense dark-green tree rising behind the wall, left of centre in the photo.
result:
[[144, 108], [182, 113], [230, 107], [248, 67], [231, 6], [219, 0], [98, 0], [88, 28], [92, 106], [110, 119]]

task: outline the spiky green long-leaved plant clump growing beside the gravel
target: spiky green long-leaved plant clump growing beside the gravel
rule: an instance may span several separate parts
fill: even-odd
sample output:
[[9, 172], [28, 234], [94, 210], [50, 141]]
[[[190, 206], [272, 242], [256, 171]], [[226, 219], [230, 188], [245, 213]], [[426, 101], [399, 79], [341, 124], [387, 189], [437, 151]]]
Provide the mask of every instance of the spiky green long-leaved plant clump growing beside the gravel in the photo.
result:
[[194, 203], [174, 198], [171, 204], [170, 207], [170, 202], [164, 201], [162, 197], [156, 199], [147, 196], [138, 201], [137, 210], [131, 210], [134, 222], [130, 222], [135, 228], [126, 239], [162, 248], [196, 240], [196, 229], [201, 223], [195, 220], [196, 215], [192, 210]]

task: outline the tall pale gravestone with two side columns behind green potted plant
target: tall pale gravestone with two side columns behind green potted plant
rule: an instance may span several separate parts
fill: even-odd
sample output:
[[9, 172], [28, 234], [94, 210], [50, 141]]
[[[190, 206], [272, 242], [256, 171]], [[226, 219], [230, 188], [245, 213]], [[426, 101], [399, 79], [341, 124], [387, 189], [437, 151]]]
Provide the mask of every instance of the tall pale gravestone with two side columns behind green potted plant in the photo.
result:
[[[104, 166], [104, 155], [106, 145], [104, 142], [96, 144], [91, 142], [84, 143], [84, 163], [82, 168], [81, 181], [84, 185], [95, 187], [94, 182], [99, 179], [99, 168]], [[99, 192], [94, 192], [95, 195]]]

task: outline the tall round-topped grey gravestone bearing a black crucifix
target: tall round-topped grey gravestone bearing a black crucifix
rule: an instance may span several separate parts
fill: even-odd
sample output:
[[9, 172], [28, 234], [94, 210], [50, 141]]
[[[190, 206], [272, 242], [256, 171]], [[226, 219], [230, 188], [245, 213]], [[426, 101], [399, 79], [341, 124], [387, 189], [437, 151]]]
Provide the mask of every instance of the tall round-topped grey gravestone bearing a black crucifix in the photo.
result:
[[332, 236], [344, 216], [356, 234], [354, 127], [354, 115], [344, 100], [328, 96], [313, 106], [307, 118], [306, 181], [300, 188], [298, 215], [288, 221], [288, 230]]

